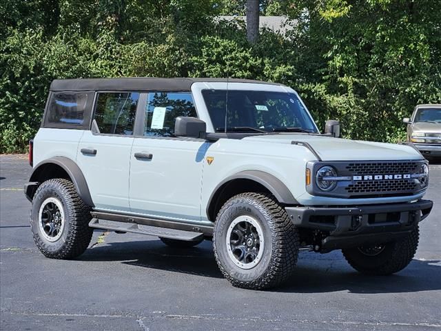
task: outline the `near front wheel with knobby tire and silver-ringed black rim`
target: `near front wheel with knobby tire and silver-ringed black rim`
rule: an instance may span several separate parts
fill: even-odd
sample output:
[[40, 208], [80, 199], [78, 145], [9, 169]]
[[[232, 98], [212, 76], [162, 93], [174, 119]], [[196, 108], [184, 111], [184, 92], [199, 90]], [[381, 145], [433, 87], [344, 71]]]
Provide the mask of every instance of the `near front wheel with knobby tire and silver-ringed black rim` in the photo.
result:
[[294, 272], [298, 230], [273, 197], [243, 193], [229, 199], [216, 217], [214, 256], [232, 285], [274, 288]]

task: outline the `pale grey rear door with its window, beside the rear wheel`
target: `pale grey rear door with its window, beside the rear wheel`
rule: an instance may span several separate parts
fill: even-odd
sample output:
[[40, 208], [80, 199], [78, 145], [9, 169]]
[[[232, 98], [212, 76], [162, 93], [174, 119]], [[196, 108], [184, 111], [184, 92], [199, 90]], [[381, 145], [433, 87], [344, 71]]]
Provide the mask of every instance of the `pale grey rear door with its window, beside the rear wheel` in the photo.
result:
[[139, 92], [98, 92], [92, 130], [81, 138], [76, 162], [98, 210], [130, 212], [130, 153]]

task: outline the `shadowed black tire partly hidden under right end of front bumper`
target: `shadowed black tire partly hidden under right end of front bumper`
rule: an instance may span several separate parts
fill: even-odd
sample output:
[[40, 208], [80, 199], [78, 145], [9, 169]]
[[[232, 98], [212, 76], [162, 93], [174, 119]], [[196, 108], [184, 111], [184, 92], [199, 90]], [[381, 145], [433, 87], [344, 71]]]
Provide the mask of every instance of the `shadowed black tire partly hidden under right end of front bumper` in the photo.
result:
[[418, 239], [419, 229], [415, 225], [406, 237], [384, 244], [384, 250], [378, 255], [363, 254], [358, 248], [349, 248], [342, 252], [349, 265], [362, 274], [394, 274], [406, 268], [412, 261], [418, 248]]

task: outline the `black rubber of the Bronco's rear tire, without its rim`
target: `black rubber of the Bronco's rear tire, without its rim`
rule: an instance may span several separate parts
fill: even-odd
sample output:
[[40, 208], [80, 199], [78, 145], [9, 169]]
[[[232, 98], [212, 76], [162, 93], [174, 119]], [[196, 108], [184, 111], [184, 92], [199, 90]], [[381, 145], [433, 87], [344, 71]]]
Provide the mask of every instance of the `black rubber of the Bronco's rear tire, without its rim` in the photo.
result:
[[[57, 241], [48, 241], [39, 227], [41, 204], [53, 197], [61, 202], [65, 224]], [[75, 186], [67, 179], [49, 179], [43, 182], [32, 201], [30, 225], [34, 241], [45, 257], [51, 259], [73, 259], [81, 255], [92, 239], [93, 229], [89, 227], [90, 207], [79, 197]]]

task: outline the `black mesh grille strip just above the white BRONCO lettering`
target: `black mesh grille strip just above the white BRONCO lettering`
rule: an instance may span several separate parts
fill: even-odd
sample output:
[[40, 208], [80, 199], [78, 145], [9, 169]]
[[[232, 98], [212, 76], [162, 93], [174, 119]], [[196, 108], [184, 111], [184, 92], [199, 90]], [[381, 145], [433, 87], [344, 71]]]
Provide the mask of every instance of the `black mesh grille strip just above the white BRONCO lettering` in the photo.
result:
[[366, 162], [349, 163], [346, 169], [354, 176], [360, 174], [413, 174], [420, 162]]

